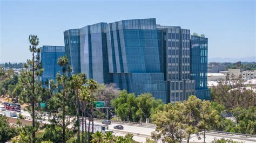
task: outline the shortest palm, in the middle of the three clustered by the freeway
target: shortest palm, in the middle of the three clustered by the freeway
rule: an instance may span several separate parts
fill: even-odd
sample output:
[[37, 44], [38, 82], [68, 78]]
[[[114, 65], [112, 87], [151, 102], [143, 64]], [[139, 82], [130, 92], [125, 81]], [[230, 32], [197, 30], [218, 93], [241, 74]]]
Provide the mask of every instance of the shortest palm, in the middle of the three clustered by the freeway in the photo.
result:
[[[82, 92], [79, 94], [79, 99], [82, 101], [82, 142], [86, 142], [87, 135], [86, 135], [86, 118], [85, 118], [85, 112], [86, 112], [86, 106], [88, 103], [90, 103], [90, 92], [87, 90], [86, 87], [82, 87]], [[84, 123], [85, 118], [85, 123]], [[85, 124], [85, 140], [84, 140], [84, 124]]]

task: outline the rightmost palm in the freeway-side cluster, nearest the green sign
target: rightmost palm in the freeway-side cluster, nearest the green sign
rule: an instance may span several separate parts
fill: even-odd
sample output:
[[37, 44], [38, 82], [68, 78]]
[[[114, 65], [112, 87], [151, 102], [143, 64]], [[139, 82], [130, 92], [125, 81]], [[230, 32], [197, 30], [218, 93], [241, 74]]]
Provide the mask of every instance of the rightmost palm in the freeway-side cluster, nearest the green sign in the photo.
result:
[[93, 133], [93, 127], [94, 127], [94, 122], [93, 122], [93, 91], [95, 91], [98, 88], [98, 83], [93, 80], [90, 79], [88, 82], [88, 89], [91, 91], [91, 118], [92, 118], [92, 133]]

